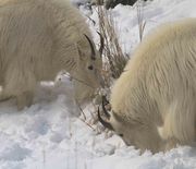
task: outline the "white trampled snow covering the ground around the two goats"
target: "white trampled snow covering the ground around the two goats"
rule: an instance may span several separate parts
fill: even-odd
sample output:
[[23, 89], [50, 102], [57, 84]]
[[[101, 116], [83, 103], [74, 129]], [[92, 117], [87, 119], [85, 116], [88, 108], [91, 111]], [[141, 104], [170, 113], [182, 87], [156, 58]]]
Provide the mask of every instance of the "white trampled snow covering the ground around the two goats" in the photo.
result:
[[[142, 10], [145, 34], [160, 23], [196, 16], [195, 7], [196, 0], [147, 2]], [[110, 12], [118, 21], [121, 45], [131, 52], [139, 41], [136, 7], [120, 4]], [[96, 20], [96, 12], [90, 16]], [[139, 155], [94, 124], [90, 105], [84, 109], [84, 122], [68, 76], [38, 86], [29, 108], [17, 111], [14, 101], [0, 102], [0, 169], [196, 169], [196, 148]]]

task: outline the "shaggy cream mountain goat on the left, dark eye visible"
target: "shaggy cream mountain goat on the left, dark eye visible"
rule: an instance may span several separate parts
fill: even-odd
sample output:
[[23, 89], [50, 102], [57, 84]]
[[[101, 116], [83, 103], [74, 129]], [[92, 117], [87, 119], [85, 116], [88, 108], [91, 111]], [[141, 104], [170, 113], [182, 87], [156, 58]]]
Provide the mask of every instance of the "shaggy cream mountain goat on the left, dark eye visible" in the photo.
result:
[[1, 0], [0, 44], [0, 100], [16, 97], [19, 109], [32, 105], [37, 82], [62, 70], [74, 79], [77, 101], [100, 86], [100, 52], [66, 0]]

